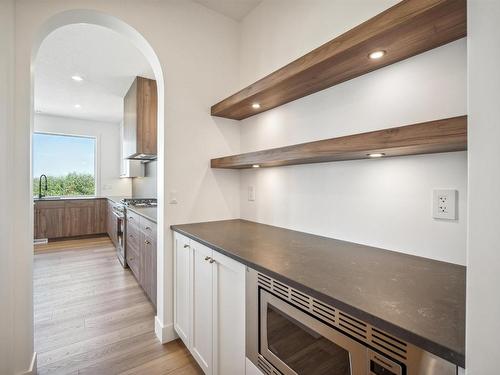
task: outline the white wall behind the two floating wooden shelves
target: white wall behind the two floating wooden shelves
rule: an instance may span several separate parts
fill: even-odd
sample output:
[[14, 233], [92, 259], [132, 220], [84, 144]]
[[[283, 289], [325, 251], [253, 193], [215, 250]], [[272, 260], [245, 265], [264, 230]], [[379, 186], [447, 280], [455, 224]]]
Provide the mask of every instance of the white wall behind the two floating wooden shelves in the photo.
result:
[[[261, 78], [395, 1], [265, 0], [242, 25], [241, 82]], [[358, 77], [241, 122], [242, 152], [466, 114], [466, 42]], [[247, 200], [255, 186], [256, 201]], [[459, 219], [432, 218], [432, 190]], [[465, 152], [242, 172], [241, 215], [266, 224], [465, 264]]]

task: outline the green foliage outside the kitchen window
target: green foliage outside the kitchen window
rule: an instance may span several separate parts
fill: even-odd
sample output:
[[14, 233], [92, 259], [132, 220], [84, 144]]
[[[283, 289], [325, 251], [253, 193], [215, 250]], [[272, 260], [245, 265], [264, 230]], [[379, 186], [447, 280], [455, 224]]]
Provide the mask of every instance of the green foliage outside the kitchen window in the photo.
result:
[[[36, 197], [38, 197], [38, 180], [38, 177], [33, 179], [33, 195]], [[95, 195], [94, 176], [76, 172], [66, 176], [47, 176], [47, 193], [44, 180], [42, 180], [42, 193], [46, 196]]]

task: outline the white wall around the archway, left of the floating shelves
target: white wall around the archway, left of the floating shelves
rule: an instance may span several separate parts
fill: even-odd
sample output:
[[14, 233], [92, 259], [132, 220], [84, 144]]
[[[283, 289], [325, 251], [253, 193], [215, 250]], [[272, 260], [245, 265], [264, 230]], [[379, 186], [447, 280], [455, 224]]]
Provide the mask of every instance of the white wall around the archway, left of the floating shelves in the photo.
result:
[[[162, 327], [172, 331], [170, 225], [239, 217], [239, 176], [232, 171], [209, 168], [210, 158], [239, 152], [239, 127], [230, 121], [213, 119], [209, 111], [219, 97], [237, 86], [238, 24], [190, 1], [18, 0], [15, 4], [17, 143], [12, 181], [18, 189], [13, 197], [17, 212], [14, 237], [21, 238], [16, 253], [23, 254], [21, 258], [26, 258], [27, 263], [32, 257], [28, 124], [31, 52], [38, 33], [47, 20], [70, 9], [94, 9], [117, 17], [146, 38], [165, 76], [164, 180], [167, 192], [178, 192], [179, 203], [162, 212], [165, 248], [164, 258], [160, 259], [164, 259], [162, 266], [167, 277], [161, 284], [164, 302], [160, 300], [158, 314]], [[158, 171], [158, 175], [163, 176], [163, 171]], [[30, 280], [28, 275], [23, 275], [19, 285], [29, 288]], [[5, 287], [10, 286], [0, 286]], [[26, 311], [30, 309], [31, 300]], [[31, 329], [30, 319], [24, 319], [24, 323]]]

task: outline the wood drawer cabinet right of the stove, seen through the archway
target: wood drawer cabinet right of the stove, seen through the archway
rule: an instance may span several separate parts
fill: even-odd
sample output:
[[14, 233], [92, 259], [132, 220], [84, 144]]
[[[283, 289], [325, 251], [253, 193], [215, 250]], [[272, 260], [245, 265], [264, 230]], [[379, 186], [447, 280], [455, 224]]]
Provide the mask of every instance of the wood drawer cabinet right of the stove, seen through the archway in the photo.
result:
[[156, 224], [128, 211], [126, 226], [127, 264], [156, 307]]

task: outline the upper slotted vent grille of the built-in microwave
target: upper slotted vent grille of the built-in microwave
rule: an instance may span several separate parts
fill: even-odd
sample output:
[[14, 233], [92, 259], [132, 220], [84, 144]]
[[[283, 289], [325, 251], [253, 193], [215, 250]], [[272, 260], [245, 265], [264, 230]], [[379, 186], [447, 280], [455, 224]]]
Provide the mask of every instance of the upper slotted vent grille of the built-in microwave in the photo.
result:
[[[324, 302], [321, 302], [303, 292], [291, 288], [260, 272], [257, 273], [257, 283], [260, 287], [276, 294], [298, 308], [309, 312], [319, 320], [328, 323], [350, 336], [360, 339], [381, 352], [396, 356], [400, 360], [407, 359], [407, 344], [360, 319], [354, 318]], [[274, 372], [265, 372], [275, 374]]]

